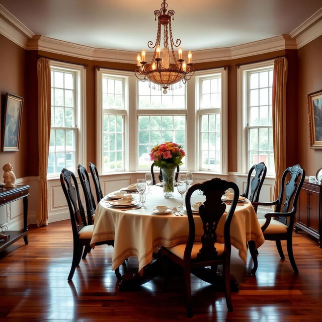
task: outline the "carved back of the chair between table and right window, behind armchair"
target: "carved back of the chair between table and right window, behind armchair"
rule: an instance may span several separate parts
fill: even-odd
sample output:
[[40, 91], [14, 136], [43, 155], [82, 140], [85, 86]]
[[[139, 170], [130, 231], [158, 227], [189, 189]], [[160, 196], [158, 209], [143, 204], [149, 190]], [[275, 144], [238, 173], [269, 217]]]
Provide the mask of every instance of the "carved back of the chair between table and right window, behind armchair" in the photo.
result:
[[[254, 171], [255, 171], [255, 176], [251, 181], [251, 176]], [[266, 177], [266, 172], [267, 172], [267, 168], [264, 162], [254, 165], [248, 173], [246, 189], [241, 196], [248, 198], [250, 201], [258, 201], [260, 197], [262, 185]]]

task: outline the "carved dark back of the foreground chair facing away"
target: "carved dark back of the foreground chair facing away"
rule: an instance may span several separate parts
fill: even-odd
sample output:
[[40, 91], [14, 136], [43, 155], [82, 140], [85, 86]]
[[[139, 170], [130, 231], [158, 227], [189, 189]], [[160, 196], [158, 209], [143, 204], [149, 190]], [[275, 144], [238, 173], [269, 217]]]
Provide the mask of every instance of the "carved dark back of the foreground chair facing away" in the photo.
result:
[[201, 190], [203, 195], [206, 196], [206, 201], [199, 208], [199, 216], [203, 223], [204, 233], [201, 237], [202, 247], [197, 255], [196, 261], [209, 262], [218, 259], [218, 253], [214, 246], [217, 241], [216, 228], [226, 209], [226, 205], [221, 201], [221, 197], [225, 194], [225, 190], [228, 188], [233, 190], [234, 197], [225, 219], [223, 234], [225, 257], [226, 260], [230, 261], [230, 223], [237, 205], [239, 189], [235, 183], [227, 182], [219, 178], [214, 178], [203, 183], [195, 184], [187, 192], [186, 208], [189, 221], [189, 236], [184, 253], [184, 261], [190, 261], [191, 251], [195, 240], [195, 222], [191, 210], [191, 195], [196, 190]]

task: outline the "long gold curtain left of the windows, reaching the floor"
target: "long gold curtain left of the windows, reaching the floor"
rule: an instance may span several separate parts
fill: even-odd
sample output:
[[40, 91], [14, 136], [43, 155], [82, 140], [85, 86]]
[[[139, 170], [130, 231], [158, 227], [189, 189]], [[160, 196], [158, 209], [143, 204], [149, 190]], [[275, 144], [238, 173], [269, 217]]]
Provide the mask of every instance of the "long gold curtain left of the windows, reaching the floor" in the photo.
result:
[[38, 150], [39, 150], [39, 192], [37, 206], [37, 226], [48, 225], [47, 170], [50, 139], [51, 79], [50, 60], [39, 58], [38, 76]]

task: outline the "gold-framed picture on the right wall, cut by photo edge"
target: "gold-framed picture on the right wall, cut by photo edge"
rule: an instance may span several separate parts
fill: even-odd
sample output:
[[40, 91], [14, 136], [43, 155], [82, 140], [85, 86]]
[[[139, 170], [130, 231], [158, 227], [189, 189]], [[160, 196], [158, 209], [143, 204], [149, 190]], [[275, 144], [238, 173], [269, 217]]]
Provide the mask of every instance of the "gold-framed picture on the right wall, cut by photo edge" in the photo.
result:
[[322, 149], [322, 89], [307, 94], [310, 147]]

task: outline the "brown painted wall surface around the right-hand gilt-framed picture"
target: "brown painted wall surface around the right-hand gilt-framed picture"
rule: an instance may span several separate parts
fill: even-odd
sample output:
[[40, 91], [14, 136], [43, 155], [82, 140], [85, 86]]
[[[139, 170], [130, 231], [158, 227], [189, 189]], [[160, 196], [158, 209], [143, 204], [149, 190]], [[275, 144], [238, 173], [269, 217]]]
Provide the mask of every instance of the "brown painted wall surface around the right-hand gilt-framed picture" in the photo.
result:
[[[310, 148], [306, 94], [322, 89], [322, 36], [298, 49], [298, 152], [307, 176], [322, 165], [322, 150]], [[295, 96], [295, 95], [294, 95]]]

